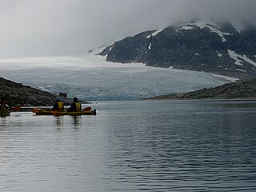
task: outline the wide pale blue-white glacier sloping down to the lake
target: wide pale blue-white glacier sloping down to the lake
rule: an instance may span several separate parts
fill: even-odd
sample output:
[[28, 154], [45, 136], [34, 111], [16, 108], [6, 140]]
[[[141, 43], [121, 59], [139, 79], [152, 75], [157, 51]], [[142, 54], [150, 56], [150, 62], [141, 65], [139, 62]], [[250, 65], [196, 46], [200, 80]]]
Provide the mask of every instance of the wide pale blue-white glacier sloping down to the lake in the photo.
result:
[[[98, 51], [99, 52], [99, 51]], [[142, 63], [106, 62], [95, 55], [76, 58], [0, 59], [0, 77], [83, 101], [138, 100], [235, 81], [204, 72], [164, 69]]]

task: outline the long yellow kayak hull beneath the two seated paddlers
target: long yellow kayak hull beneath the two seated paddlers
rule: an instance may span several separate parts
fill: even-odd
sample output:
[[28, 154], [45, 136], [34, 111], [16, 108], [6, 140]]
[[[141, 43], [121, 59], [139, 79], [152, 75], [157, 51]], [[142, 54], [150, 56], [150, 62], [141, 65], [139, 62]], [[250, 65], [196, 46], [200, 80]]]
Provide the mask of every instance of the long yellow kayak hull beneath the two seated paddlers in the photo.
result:
[[68, 110], [49, 110], [49, 109], [32, 109], [32, 112], [36, 115], [96, 115], [96, 110], [90, 110], [90, 107], [86, 107], [81, 111], [68, 111]]

